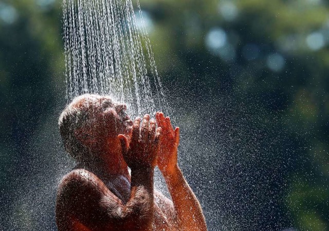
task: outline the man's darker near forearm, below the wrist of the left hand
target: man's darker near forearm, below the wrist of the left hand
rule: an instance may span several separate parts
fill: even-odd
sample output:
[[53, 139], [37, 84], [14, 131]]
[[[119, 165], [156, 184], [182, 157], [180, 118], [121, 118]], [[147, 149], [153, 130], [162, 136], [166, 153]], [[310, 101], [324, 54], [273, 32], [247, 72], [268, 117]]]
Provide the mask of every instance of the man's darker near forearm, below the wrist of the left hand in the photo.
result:
[[[153, 168], [132, 170], [131, 198], [123, 209], [129, 229], [151, 230], [154, 218]], [[130, 223], [130, 222], [129, 222]], [[130, 223], [132, 224], [132, 223]]]

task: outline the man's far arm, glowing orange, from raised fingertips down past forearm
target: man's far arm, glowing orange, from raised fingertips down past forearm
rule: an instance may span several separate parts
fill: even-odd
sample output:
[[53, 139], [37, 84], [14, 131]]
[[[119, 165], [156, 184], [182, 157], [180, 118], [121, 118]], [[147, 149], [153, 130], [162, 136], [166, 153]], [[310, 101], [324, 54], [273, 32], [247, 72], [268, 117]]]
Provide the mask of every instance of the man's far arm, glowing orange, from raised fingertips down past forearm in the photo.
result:
[[177, 165], [179, 128], [173, 130], [169, 117], [156, 114], [162, 129], [158, 167], [173, 200], [179, 230], [207, 230], [202, 208]]

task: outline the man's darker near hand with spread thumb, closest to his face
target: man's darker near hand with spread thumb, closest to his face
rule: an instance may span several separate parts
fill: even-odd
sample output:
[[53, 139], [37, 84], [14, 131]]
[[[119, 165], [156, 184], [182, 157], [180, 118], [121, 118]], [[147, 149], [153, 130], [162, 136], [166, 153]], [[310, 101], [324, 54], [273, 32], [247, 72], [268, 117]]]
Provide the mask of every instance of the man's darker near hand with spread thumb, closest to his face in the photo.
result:
[[150, 115], [144, 115], [142, 127], [141, 119], [134, 121], [130, 143], [124, 135], [118, 135], [121, 142], [122, 155], [128, 166], [133, 169], [154, 168], [158, 152], [158, 141], [161, 137], [161, 129], [156, 130], [154, 119], [150, 121]]

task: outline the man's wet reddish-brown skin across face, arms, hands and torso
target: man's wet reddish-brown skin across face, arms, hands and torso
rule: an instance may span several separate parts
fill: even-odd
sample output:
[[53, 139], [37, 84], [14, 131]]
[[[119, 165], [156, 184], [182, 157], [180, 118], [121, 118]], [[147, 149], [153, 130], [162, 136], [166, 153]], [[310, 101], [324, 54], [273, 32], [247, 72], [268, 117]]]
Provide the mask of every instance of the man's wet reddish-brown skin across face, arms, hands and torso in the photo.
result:
[[[177, 165], [179, 129], [173, 130], [170, 118], [157, 113], [156, 120], [145, 115], [133, 122], [123, 113], [124, 104], [100, 96], [86, 100], [92, 124], [76, 136], [93, 158], [59, 185], [59, 230], [206, 230], [202, 209]], [[156, 165], [173, 201], [153, 190]]]

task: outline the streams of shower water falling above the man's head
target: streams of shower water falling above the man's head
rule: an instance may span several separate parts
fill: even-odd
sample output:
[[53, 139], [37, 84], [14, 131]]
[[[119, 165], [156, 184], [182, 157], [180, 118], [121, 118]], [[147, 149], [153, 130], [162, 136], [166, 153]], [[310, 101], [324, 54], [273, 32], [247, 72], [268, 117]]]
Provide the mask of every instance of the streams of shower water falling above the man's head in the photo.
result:
[[68, 102], [96, 93], [127, 103], [133, 116], [166, 111], [138, 0], [137, 8], [141, 29], [130, 0], [63, 0]]

